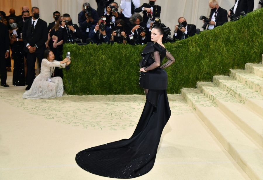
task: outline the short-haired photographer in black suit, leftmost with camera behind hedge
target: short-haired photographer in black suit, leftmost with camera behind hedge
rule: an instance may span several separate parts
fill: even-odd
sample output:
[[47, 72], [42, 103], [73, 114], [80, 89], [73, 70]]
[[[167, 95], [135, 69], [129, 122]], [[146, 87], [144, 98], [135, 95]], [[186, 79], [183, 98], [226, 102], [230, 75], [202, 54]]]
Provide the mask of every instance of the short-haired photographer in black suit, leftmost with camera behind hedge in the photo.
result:
[[82, 38], [78, 25], [72, 23], [69, 14], [63, 14], [59, 33], [63, 36], [63, 44], [77, 42]]

